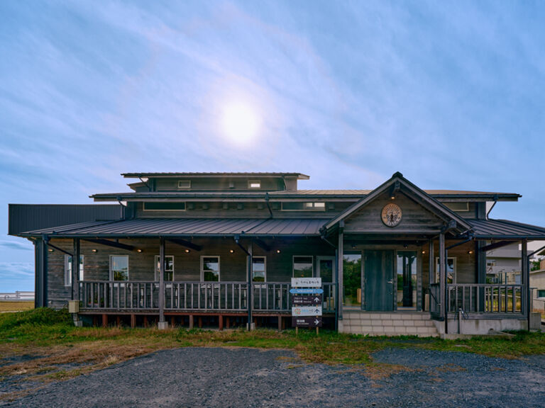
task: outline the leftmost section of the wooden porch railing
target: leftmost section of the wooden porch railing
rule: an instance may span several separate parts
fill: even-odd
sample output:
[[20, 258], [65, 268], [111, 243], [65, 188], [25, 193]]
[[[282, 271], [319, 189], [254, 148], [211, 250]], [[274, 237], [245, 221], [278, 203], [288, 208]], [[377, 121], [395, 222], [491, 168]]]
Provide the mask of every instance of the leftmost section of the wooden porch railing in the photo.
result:
[[159, 283], [82, 280], [79, 281], [79, 300], [84, 309], [153, 310], [159, 307]]

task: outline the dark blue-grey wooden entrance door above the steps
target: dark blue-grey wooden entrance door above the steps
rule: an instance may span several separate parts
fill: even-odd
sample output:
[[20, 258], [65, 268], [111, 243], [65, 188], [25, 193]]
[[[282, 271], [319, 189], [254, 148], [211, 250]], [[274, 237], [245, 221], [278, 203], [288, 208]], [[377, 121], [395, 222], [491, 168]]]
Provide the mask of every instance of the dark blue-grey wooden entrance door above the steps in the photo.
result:
[[365, 310], [394, 310], [394, 251], [365, 251]]

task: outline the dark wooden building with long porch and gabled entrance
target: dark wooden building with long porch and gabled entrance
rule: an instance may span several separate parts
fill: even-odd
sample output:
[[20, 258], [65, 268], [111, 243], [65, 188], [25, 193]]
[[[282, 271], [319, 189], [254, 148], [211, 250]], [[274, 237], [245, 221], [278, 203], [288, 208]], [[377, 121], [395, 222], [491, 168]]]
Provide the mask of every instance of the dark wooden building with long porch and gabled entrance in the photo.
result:
[[[297, 173], [131, 173], [107, 205], [10, 205], [35, 244], [36, 306], [95, 324], [289, 325], [290, 280], [319, 276], [326, 322], [358, 334], [529, 329], [527, 242], [545, 229], [488, 218], [514, 193], [302, 190]], [[522, 281], [486, 283], [486, 251], [522, 243]], [[204, 323], [203, 323], [204, 322]]]

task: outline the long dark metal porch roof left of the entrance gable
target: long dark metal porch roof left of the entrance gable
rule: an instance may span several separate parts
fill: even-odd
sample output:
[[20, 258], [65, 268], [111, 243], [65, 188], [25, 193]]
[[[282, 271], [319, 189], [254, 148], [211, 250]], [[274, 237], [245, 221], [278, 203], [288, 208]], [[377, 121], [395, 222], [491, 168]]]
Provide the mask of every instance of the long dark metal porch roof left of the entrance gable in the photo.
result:
[[65, 225], [21, 236], [145, 237], [168, 235], [319, 235], [324, 219], [140, 218]]

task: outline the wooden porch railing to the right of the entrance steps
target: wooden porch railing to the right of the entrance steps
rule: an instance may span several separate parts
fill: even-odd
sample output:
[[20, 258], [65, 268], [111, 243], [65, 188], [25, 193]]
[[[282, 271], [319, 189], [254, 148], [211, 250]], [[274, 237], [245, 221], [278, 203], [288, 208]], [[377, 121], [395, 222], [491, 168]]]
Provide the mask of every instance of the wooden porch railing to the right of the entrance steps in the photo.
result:
[[447, 285], [449, 313], [522, 314], [524, 285], [454, 283]]

